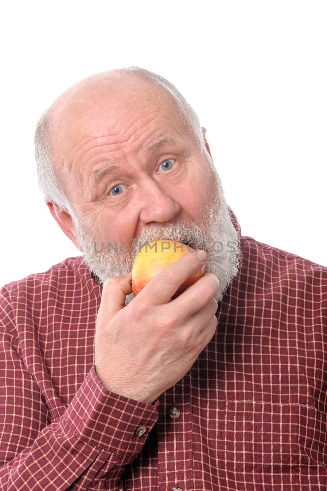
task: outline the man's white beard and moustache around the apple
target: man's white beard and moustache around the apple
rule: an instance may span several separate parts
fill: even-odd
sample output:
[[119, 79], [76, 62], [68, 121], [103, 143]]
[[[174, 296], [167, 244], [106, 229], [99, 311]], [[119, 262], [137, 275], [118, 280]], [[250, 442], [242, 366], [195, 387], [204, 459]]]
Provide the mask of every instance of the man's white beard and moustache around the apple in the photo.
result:
[[[237, 275], [240, 265], [240, 248], [239, 248], [239, 233], [234, 228], [230, 218], [228, 205], [224, 198], [223, 189], [220, 178], [214, 166], [211, 166], [211, 174], [214, 179], [215, 191], [213, 202], [209, 207], [205, 202], [204, 207], [204, 225], [198, 225], [194, 220], [191, 223], [184, 223], [177, 220], [173, 223], [154, 223], [145, 227], [140, 235], [135, 238], [135, 245], [132, 241], [124, 242], [124, 250], [122, 252], [121, 243], [117, 242], [117, 252], [112, 247], [107, 248], [107, 243], [104, 242], [103, 252], [96, 252], [93, 236], [86, 234], [81, 226], [81, 222], [77, 217], [74, 217], [76, 238], [78, 239], [81, 249], [84, 252], [82, 262], [84, 262], [89, 270], [95, 273], [101, 285], [111, 276], [125, 276], [130, 273], [133, 268], [133, 263], [136, 254], [139, 251], [139, 243], [141, 246], [147, 242], [158, 240], [172, 240], [176, 242], [191, 243], [194, 248], [205, 249], [207, 252], [207, 261], [205, 273], [213, 273], [219, 279], [219, 291], [215, 299], [217, 302], [222, 301], [223, 295], [230, 286], [232, 279]], [[115, 247], [115, 241], [109, 241]], [[205, 243], [207, 242], [207, 245]], [[216, 244], [213, 249], [213, 244], [220, 242], [223, 246], [221, 252], [216, 252], [221, 249], [220, 244]], [[228, 243], [233, 243], [232, 245]], [[196, 244], [193, 246], [192, 243]], [[203, 244], [201, 244], [203, 243]], [[96, 243], [98, 250], [101, 250], [102, 244]], [[234, 248], [233, 251], [230, 251]], [[188, 250], [184, 246], [184, 250]], [[180, 249], [177, 249], [180, 250]], [[133, 293], [126, 297], [125, 305], [133, 300]]]

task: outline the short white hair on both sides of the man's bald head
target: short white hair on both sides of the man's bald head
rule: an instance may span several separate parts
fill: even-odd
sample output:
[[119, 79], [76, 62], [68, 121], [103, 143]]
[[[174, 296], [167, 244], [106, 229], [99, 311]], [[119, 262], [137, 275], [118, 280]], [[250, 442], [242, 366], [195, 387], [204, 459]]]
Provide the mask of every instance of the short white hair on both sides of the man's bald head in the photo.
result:
[[[142, 77], [154, 83], [157, 87], [164, 89], [166, 93], [174, 98], [184, 119], [184, 124], [188, 125], [190, 134], [194, 136], [197, 141], [197, 148], [200, 149], [201, 155], [207, 159], [211, 170], [213, 170], [215, 166], [206, 149], [199, 118], [184, 96], [177, 90], [175, 85], [164, 77], [138, 66], [129, 66], [120, 69], [120, 71], [133, 73], [136, 77]], [[74, 210], [72, 209], [69, 199], [54, 170], [49, 145], [49, 130], [50, 117], [48, 108], [41, 114], [35, 129], [34, 144], [38, 186], [46, 201], [57, 204], [62, 210], [75, 218]]]

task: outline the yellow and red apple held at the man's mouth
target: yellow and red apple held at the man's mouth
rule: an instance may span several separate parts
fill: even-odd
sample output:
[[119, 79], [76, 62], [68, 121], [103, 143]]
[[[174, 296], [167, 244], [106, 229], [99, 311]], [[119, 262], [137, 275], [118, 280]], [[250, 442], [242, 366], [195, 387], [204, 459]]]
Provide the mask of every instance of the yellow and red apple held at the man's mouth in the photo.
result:
[[[157, 249], [155, 244], [157, 244]], [[176, 251], [174, 251], [174, 244], [176, 244]], [[143, 246], [137, 253], [132, 268], [132, 291], [134, 297], [136, 297], [154, 276], [163, 271], [169, 264], [177, 261], [177, 259], [188, 252], [194, 251], [192, 254], [195, 254], [195, 250], [191, 246], [171, 240], [153, 241]], [[204, 273], [201, 268], [184, 281], [171, 298], [178, 297], [203, 275]]]

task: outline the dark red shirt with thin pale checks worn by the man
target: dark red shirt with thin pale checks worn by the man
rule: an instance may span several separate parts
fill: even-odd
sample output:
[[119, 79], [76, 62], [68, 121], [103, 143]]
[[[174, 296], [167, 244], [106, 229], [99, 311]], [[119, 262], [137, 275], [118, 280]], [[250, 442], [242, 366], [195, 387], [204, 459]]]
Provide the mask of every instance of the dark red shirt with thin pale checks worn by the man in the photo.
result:
[[82, 256], [1, 288], [0, 489], [327, 490], [327, 268], [240, 242], [216, 334], [153, 404], [97, 378]]

